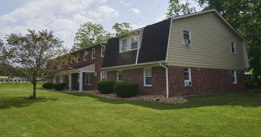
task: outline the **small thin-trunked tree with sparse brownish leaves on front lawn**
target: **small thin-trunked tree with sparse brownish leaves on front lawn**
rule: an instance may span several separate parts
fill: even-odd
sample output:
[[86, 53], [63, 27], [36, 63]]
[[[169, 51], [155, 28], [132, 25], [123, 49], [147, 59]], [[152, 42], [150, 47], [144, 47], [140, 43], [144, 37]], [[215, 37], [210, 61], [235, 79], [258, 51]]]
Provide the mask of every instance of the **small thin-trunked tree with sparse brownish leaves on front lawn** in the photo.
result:
[[61, 62], [71, 57], [63, 48], [59, 38], [53, 31], [42, 30], [36, 33], [29, 30], [25, 36], [19, 34], [6, 35], [6, 44], [0, 45], [0, 62], [5, 64], [14, 75], [26, 78], [33, 84], [33, 98], [36, 99], [36, 83], [46, 74], [57, 73], [69, 69], [61, 66]]

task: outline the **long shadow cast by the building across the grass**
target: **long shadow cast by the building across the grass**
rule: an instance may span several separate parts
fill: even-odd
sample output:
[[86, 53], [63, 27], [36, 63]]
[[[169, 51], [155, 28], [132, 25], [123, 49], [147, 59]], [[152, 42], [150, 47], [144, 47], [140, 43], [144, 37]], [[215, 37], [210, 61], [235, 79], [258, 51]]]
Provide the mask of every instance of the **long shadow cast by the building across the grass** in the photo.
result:
[[97, 97], [95, 95], [86, 93], [72, 93], [62, 92], [69, 95], [79, 97], [87, 96], [97, 99], [97, 101], [111, 104], [132, 104], [141, 107], [148, 107], [158, 110], [171, 110], [171, 109], [184, 109], [193, 107], [208, 107], [208, 106], [243, 106], [243, 107], [259, 107], [261, 106], [261, 91], [245, 91], [237, 93], [225, 93], [215, 95], [201, 95], [187, 97], [188, 103], [170, 104], [160, 102], [149, 102], [141, 100], [120, 100], [120, 99], [107, 99]]

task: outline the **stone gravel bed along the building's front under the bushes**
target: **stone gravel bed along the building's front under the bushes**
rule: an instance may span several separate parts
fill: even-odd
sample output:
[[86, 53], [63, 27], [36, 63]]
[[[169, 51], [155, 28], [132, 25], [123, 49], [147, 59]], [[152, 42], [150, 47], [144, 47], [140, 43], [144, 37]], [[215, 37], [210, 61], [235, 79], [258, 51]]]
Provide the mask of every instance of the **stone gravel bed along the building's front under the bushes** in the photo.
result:
[[[48, 91], [54, 91], [54, 92], [79, 92], [79, 91], [56, 91], [56, 90], [48, 90]], [[143, 100], [143, 101], [153, 101], [153, 102], [164, 102], [164, 103], [186, 103], [188, 102], [187, 99], [184, 99], [182, 97], [171, 97], [171, 98], [166, 98], [166, 96], [162, 95], [136, 95], [134, 97], [129, 97], [129, 98], [123, 98], [119, 97], [115, 93], [111, 94], [103, 94], [97, 90], [94, 91], [80, 91], [82, 93], [88, 93], [92, 94], [98, 97], [103, 97], [103, 98], [109, 98], [109, 99], [124, 99], [124, 100]]]

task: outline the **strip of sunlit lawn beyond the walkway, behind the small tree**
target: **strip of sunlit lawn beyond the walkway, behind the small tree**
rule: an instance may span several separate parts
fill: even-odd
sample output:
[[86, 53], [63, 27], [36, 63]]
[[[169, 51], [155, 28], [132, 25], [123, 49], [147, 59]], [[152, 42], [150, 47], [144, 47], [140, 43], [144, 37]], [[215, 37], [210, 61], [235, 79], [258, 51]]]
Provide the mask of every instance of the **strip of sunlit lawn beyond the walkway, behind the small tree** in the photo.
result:
[[[36, 84], [36, 91], [46, 91], [42, 87], [43, 83]], [[28, 83], [0, 83], [0, 92], [25, 92], [34, 91], [33, 84]]]

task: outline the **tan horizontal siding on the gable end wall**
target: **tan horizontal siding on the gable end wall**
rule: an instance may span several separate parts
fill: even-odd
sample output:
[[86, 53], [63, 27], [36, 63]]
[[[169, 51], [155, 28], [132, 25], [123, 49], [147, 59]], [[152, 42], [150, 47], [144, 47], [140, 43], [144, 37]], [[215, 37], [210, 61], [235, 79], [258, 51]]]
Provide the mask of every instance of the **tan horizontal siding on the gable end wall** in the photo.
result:
[[[183, 45], [183, 30], [191, 31], [191, 47]], [[236, 54], [231, 53], [235, 42]], [[243, 70], [243, 40], [212, 12], [173, 20], [168, 65]]]

